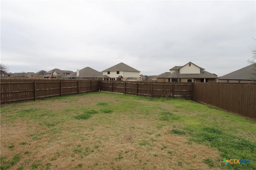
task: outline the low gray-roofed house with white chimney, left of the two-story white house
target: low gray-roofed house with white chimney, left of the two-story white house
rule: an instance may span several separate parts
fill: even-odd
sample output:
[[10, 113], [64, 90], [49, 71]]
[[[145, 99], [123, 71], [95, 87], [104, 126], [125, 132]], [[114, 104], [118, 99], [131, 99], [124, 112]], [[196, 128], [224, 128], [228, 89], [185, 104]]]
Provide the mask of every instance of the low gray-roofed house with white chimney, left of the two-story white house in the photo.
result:
[[85, 67], [81, 70], [77, 70], [70, 76], [66, 76], [66, 78], [79, 78], [79, 79], [87, 79], [87, 80], [100, 80], [100, 76], [103, 76], [102, 72], [94, 70], [90, 67]]

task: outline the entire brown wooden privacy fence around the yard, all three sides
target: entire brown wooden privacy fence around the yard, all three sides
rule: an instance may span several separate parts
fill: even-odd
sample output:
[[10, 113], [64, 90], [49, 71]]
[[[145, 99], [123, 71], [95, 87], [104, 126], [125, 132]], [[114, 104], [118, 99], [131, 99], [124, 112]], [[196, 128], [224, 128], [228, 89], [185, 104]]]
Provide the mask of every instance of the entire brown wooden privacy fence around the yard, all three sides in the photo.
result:
[[256, 84], [127, 82], [72, 79], [4, 79], [0, 82], [1, 104], [37, 100], [99, 90], [196, 100], [240, 115], [256, 118]]

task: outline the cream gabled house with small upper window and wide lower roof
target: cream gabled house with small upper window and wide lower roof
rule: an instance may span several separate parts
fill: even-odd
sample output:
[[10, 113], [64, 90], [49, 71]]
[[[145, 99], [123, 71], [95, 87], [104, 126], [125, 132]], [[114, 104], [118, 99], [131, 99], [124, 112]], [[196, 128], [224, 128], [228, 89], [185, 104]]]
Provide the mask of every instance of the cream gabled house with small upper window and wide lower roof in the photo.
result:
[[170, 72], [157, 76], [158, 82], [217, 82], [218, 77], [204, 68], [189, 62], [184, 66], [174, 66]]

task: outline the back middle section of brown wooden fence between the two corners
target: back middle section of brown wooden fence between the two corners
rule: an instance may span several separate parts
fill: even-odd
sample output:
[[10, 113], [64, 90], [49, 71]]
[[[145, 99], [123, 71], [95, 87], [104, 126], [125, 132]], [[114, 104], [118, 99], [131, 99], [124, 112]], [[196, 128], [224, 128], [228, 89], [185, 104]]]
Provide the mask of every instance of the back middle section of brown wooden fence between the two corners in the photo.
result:
[[193, 83], [101, 81], [100, 90], [138, 96], [192, 99]]

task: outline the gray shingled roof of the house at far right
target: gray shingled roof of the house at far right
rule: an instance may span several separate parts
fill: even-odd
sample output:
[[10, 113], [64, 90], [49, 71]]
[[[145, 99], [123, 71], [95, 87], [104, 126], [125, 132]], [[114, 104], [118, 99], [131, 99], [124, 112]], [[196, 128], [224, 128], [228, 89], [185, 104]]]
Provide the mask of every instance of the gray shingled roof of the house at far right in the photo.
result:
[[220, 76], [220, 80], [252, 80], [252, 73], [256, 72], [256, 64], [251, 64], [234, 72], [230, 72], [224, 76]]

